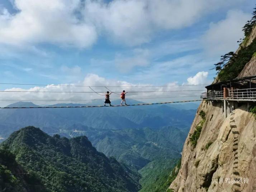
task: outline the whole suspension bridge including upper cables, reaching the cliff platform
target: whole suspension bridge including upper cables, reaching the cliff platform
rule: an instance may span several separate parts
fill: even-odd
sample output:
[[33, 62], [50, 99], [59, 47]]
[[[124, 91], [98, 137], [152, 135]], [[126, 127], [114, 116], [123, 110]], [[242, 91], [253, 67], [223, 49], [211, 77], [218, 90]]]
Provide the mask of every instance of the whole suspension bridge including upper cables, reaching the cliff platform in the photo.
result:
[[[167, 92], [198, 92], [198, 91], [204, 91], [202, 89], [185, 89], [185, 90], [170, 90], [170, 89], [167, 89], [168, 87], [189, 87], [189, 86], [203, 86], [205, 84], [200, 84], [200, 85], [161, 85], [161, 86], [155, 86], [155, 85], [139, 85], [139, 86], [131, 86], [131, 85], [122, 85], [122, 86], [102, 86], [102, 85], [99, 85], [99, 86], [87, 86], [87, 85], [44, 85], [44, 84], [23, 84], [23, 83], [0, 83], [0, 85], [22, 85], [22, 86], [47, 86], [47, 87], [57, 87], [57, 86], [60, 86], [60, 87], [88, 87], [90, 88], [91, 91], [56, 91], [56, 90], [31, 90], [31, 89], [28, 89], [28, 90], [0, 90], [1, 94], [2, 93], [95, 93], [95, 94], [98, 94], [100, 96], [105, 96], [105, 93], [106, 92], [103, 92], [103, 91], [95, 91], [94, 90], [94, 87], [99, 87], [99, 88], [104, 88], [116, 95], [120, 95], [120, 92], [117, 92], [117, 91], [111, 91], [110, 90], [110, 87], [138, 87], [140, 88], [139, 91], [128, 91], [129, 93], [157, 93], [157, 92], [162, 92], [162, 93], [167, 93]], [[142, 88], [145, 88], [145, 87], [161, 87], [160, 90], [146, 90], [146, 91], [143, 91], [141, 90]], [[40, 88], [40, 87], [39, 87]], [[200, 97], [200, 95], [181, 95], [181, 94], [178, 94], [178, 96], [171, 96], [171, 97], [144, 97], [144, 98], [131, 98], [131, 99], [167, 99], [167, 98], [175, 98], [175, 97]], [[95, 101], [95, 100], [103, 100], [103, 99], [27, 99], [27, 100], [15, 100], [15, 99], [0, 99], [0, 101]], [[142, 106], [142, 105], [160, 105], [160, 104], [173, 104], [173, 103], [182, 103], [182, 102], [195, 102], [195, 101], [202, 101], [202, 99], [196, 99], [196, 100], [185, 100], [185, 101], [169, 101], [169, 102], [150, 102], [150, 103], [139, 103], [139, 104], [131, 104], [131, 105], [112, 105], [112, 106], [105, 106], [105, 105], [82, 105], [81, 106], [10, 106], [10, 107], [0, 107], [0, 109], [42, 109], [42, 108], [89, 108], [89, 107], [128, 107], [128, 106]]]

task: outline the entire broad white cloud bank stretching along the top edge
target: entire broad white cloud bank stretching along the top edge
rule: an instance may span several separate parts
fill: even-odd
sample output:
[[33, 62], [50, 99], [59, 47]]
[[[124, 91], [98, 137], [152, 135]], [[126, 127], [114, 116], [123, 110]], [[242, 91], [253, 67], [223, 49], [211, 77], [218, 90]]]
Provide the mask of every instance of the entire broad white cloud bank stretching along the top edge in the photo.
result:
[[13, 0], [0, 10], [0, 43], [86, 48], [106, 35], [115, 43], [150, 42], [157, 30], [180, 29], [214, 9], [243, 0]]

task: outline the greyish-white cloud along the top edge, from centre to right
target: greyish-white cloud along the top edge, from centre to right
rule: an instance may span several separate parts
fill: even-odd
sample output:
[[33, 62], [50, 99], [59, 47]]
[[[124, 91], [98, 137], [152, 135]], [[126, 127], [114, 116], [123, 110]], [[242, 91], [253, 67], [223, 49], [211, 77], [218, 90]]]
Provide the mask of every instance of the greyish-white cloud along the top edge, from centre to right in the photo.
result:
[[244, 0], [87, 0], [84, 16], [114, 42], [138, 45], [150, 42], [161, 29], [181, 29], [211, 11]]

